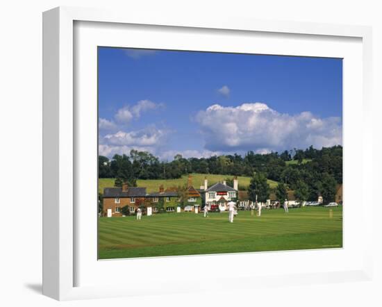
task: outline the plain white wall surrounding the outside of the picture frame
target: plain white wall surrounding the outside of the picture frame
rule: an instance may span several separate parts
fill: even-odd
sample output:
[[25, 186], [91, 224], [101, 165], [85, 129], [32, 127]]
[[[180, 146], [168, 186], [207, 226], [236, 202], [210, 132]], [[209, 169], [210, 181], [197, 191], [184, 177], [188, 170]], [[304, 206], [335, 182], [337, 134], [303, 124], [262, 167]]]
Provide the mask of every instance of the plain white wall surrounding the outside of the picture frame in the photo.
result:
[[[3, 1], [0, 4], [0, 84], [1, 84], [1, 194], [2, 219], [0, 260], [0, 304], [2, 306], [63, 306], [40, 295], [42, 256], [42, 11], [55, 6], [113, 7], [119, 10], [149, 10], [160, 14], [170, 10], [174, 14], [208, 16], [242, 16], [258, 19], [365, 24], [374, 26], [374, 90], [375, 101], [382, 101], [382, 19], [380, 1], [345, 0], [276, 0], [276, 1], [101, 1], [101, 0], [37, 0]], [[224, 65], [224, 63], [222, 63]], [[374, 109], [374, 131], [381, 131], [381, 103]], [[346, 146], [346, 145], [345, 145]], [[361, 146], [361, 145], [360, 145]], [[381, 152], [381, 143], [374, 149]], [[376, 191], [381, 169], [374, 159], [374, 181], [369, 189]], [[25, 184], [27, 183], [27, 184]], [[23, 188], [21, 188], [23, 185]], [[24, 201], [15, 202], [23, 195]], [[27, 197], [25, 197], [27, 196]], [[4, 199], [5, 198], [5, 199]], [[17, 219], [14, 212], [17, 206]], [[381, 216], [376, 206], [375, 216]], [[382, 233], [382, 223], [374, 223]], [[381, 240], [375, 240], [376, 258], [381, 259]], [[64, 306], [195, 306], [213, 303], [220, 306], [377, 306], [381, 282], [381, 264], [375, 263], [374, 283], [338, 283], [306, 285], [277, 289], [254, 289], [254, 292], [219, 292], [201, 294], [145, 297], [131, 299], [67, 302]], [[227, 290], [229, 289], [227, 281]], [[192, 287], [192, 285], [186, 285]], [[206, 285], [208, 286], [208, 285]], [[277, 295], [275, 295], [277, 293]], [[320, 293], [317, 295], [317, 293]], [[314, 299], [312, 299], [314, 297]]]

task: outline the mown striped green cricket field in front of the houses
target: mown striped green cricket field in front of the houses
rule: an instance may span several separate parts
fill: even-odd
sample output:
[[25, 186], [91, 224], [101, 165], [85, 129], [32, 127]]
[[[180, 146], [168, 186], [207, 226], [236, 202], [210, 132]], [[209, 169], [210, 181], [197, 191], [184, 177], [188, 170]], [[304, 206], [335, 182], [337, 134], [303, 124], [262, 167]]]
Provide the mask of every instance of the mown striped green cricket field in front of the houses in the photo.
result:
[[99, 218], [99, 259], [342, 247], [342, 207]]

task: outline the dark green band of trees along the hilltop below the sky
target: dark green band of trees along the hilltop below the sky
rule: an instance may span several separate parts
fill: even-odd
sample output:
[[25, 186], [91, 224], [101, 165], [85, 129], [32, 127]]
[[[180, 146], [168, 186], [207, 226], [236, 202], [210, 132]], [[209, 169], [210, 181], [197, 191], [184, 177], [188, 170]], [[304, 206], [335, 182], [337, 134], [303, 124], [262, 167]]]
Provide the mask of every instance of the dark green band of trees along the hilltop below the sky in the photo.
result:
[[251, 177], [258, 174], [261, 177], [256, 179], [260, 182], [258, 185], [263, 185], [264, 178], [279, 182], [276, 194], [281, 195], [288, 188], [297, 192], [296, 197], [300, 199], [317, 200], [319, 194], [324, 199], [332, 199], [335, 186], [342, 183], [342, 146], [322, 149], [310, 146], [305, 150], [285, 150], [281, 154], [248, 151], [244, 156], [210, 158], [183, 158], [178, 154], [170, 162], [136, 150], [131, 150], [128, 156], [116, 154], [111, 160], [99, 156], [99, 178], [116, 178], [116, 185], [126, 182], [134, 186], [137, 179], [178, 179], [190, 173]]

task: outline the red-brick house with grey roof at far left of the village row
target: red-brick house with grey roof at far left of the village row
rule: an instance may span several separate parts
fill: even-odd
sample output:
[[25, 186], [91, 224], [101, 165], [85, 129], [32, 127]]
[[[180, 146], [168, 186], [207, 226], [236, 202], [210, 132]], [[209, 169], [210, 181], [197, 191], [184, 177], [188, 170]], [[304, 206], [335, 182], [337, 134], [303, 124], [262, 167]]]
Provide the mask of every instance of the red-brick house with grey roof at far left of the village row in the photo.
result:
[[107, 217], [122, 216], [122, 208], [128, 206], [131, 214], [144, 205], [146, 188], [128, 187], [103, 189], [103, 215]]

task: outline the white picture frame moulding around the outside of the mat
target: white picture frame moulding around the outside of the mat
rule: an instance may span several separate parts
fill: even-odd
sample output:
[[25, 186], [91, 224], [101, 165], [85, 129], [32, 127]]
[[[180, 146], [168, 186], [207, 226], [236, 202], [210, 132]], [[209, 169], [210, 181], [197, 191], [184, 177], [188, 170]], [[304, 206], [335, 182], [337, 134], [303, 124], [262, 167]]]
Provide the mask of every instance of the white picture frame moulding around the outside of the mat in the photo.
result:
[[[261, 275], [256, 275], [249, 270], [245, 276], [235, 276], [235, 274], [233, 274], [227, 277], [210, 276], [210, 279], [214, 280], [217, 285], [224, 285], [227, 282], [232, 281], [233, 283], [233, 281], [235, 281], [235, 286], [244, 288], [254, 287], [256, 285], [275, 285], [283, 283], [306, 284], [371, 279], [372, 210], [370, 209], [372, 206], [372, 197], [365, 192], [367, 189], [367, 176], [372, 176], [372, 127], [371, 122], [367, 122], [367, 118], [369, 118], [372, 110], [371, 28], [366, 26], [340, 26], [333, 24], [269, 22], [240, 18], [227, 19], [224, 17], [213, 17], [209, 19], [204, 17], [190, 17], [185, 19], [184, 17], [176, 17], [170, 14], [150, 16], [135, 12], [120, 13], [88, 8], [60, 7], [49, 10], [43, 15], [43, 294], [58, 300], [68, 300], [145, 295], [147, 291], [151, 293], [158, 291], [158, 294], [163, 293], [162, 288], [139, 290], [131, 286], [121, 285], [117, 282], [118, 272], [114, 272], [116, 277], [115, 281], [108, 282], [107, 285], [97, 283], [93, 285], [84, 283], [82, 285], [76, 280], [76, 274], [80, 269], [78, 263], [81, 263], [81, 261], [84, 263], [83, 260], [78, 261], [78, 257], [81, 256], [78, 256], [78, 252], [81, 249], [78, 246], [79, 241], [76, 233], [81, 232], [81, 220], [78, 219], [78, 216], [81, 215], [78, 215], [78, 208], [75, 206], [76, 199], [78, 199], [77, 185], [78, 182], [81, 181], [81, 176], [78, 176], [76, 173], [78, 167], [81, 166], [78, 165], [81, 160], [81, 158], [78, 158], [78, 156], [81, 156], [81, 154], [78, 153], [79, 148], [81, 148], [78, 142], [81, 142], [81, 137], [77, 134], [78, 126], [81, 126], [81, 114], [78, 115], [81, 113], [81, 110], [78, 111], [76, 109], [75, 99], [78, 99], [78, 97], [76, 97], [77, 93], [74, 92], [74, 83], [77, 81], [77, 76], [74, 74], [76, 70], [74, 66], [76, 65], [74, 44], [78, 43], [74, 41], [76, 38], [78, 39], [74, 31], [74, 24], [76, 22], [108, 23], [108, 26], [128, 26], [129, 24], [151, 25], [158, 28], [185, 28], [188, 29], [188, 31], [197, 29], [199, 35], [204, 31], [213, 30], [229, 31], [231, 33], [230, 35], [240, 35], [240, 33], [261, 33], [261, 35], [265, 36], [271, 35], [272, 33], [279, 33], [279, 35], [295, 34], [300, 35], [301, 40], [305, 38], [308, 39], [309, 37], [325, 37], [333, 42], [340, 40], [340, 38], [358, 40], [362, 49], [362, 56], [360, 57], [362, 63], [358, 63], [360, 65], [358, 69], [361, 69], [362, 77], [356, 78], [354, 82], [358, 82], [358, 84], [354, 85], [356, 85], [358, 94], [360, 94], [360, 100], [362, 101], [360, 106], [363, 114], [363, 131], [359, 135], [355, 135], [354, 139], [356, 142], [362, 142], [362, 146], [359, 156], [349, 156], [349, 159], [347, 156], [344, 156], [344, 160], [346, 161], [348, 159], [347, 163], [349, 163], [352, 158], [358, 157], [362, 159], [362, 163], [358, 169], [356, 169], [355, 174], [348, 172], [347, 174], [349, 175], [345, 175], [345, 179], [351, 179], [353, 178], [352, 176], [359, 176], [358, 178], [362, 180], [362, 193], [359, 193], [360, 195], [358, 196], [362, 197], [360, 199], [363, 202], [363, 206], [359, 208], [358, 213], [360, 213], [360, 217], [362, 217], [359, 223], [362, 226], [361, 235], [363, 238], [363, 246], [357, 255], [359, 261], [357, 260], [357, 263], [354, 263], [354, 265], [343, 265], [343, 267], [338, 270], [328, 266], [327, 270], [322, 268], [320, 272], [315, 273], [304, 272], [303, 266], [301, 272], [296, 271], [294, 274], [291, 272], [283, 274], [270, 272], [269, 274], [262, 273]], [[197, 49], [197, 47], [195, 48]], [[281, 51], [281, 53], [283, 53], [283, 51]], [[344, 116], [347, 116], [346, 112], [344, 113]], [[80, 121], [79, 124], [78, 120]], [[346, 138], [344, 143], [346, 143]], [[348, 146], [348, 144], [349, 143], [344, 146]], [[97, 172], [97, 170], [94, 169], [94, 172]], [[349, 186], [351, 186], [350, 181]], [[346, 197], [346, 185], [344, 185], [344, 189]], [[85, 193], [91, 194], [91, 191], [85, 189]], [[347, 213], [349, 213], [349, 215]], [[351, 217], [351, 208], [349, 208], [347, 213], [345, 213], [344, 224], [347, 223], [347, 216]], [[349, 229], [351, 229], [351, 227], [350, 225]], [[93, 231], [96, 232], [97, 229]], [[92, 244], [94, 244], [94, 242]], [[347, 247], [344, 246], [344, 249], [346, 248]], [[94, 253], [94, 251], [92, 252]], [[226, 255], [224, 259], [240, 259], [244, 261], [244, 259], [248, 260], [254, 255], [251, 253], [243, 254]], [[260, 253], [258, 255], [260, 256], [256, 257], [267, 255], [267, 257], [276, 259], [280, 254]], [[314, 255], [312, 254], [312, 256]], [[327, 256], [329, 257], [329, 253]], [[166, 267], [171, 261], [175, 267], [178, 267], [181, 266], [185, 260], [190, 260], [189, 258], [192, 258], [191, 260], [197, 263], [202, 257], [219, 256], [199, 256], [194, 258], [192, 258], [192, 256], [167, 257], [129, 261], [135, 261], [134, 264], [141, 265], [141, 267], [142, 264], [146, 265], [148, 267], [147, 272], [149, 272], [149, 269], [153, 272], [153, 269], [157, 267], [158, 274], [162, 274], [160, 279], [158, 279], [158, 281], [160, 281], [161, 279], [165, 279], [165, 276], [163, 276], [163, 270], [158, 267], [158, 263]], [[283, 257], [288, 257], [288, 252], [283, 254]], [[97, 259], [93, 260], [97, 261]], [[110, 265], [113, 265], [113, 263], [110, 263]], [[170, 272], [171, 274], [169, 274], [168, 280], [176, 281], [176, 274], [178, 273], [176, 269], [173, 271], [174, 272]], [[84, 274], [87, 273], [85, 272]], [[131, 274], [136, 274], [136, 272], [134, 273], [132, 269]], [[261, 279], [259, 276], [261, 276]], [[196, 279], [196, 277], [190, 276], [190, 279], [192, 278]], [[183, 281], [181, 276], [178, 276], [178, 281]], [[194, 281], [195, 284], [197, 284], [197, 280]], [[203, 290], [203, 288], [203, 285], [196, 285], [191, 291]], [[188, 291], [189, 290], [185, 290], [181, 286], [174, 286], [171, 290], [165, 292], [181, 293]]]

